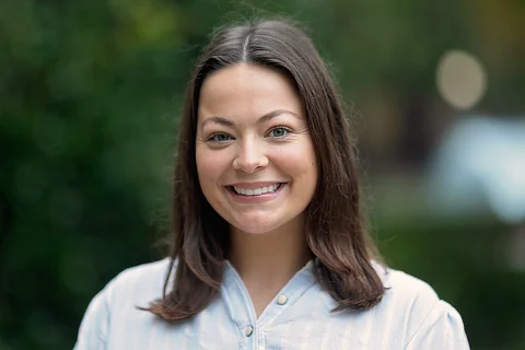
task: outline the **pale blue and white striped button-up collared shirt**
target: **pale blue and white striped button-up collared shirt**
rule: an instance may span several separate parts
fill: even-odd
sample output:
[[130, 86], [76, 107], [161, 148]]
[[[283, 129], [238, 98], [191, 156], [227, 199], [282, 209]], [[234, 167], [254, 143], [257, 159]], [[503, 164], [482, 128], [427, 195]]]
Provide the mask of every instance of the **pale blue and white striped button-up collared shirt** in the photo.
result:
[[170, 324], [137, 310], [162, 295], [170, 260], [127, 269], [90, 303], [75, 350], [133, 349], [469, 349], [462, 317], [424, 282], [377, 267], [382, 302], [368, 311], [331, 313], [336, 302], [308, 262], [256, 316], [226, 262], [220, 296], [189, 320]]

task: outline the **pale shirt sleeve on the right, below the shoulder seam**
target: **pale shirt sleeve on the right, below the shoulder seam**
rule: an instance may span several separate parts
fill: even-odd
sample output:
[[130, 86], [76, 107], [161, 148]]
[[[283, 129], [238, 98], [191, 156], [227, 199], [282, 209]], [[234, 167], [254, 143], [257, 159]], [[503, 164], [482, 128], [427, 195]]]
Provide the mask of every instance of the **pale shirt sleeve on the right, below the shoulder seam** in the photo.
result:
[[462, 316], [446, 302], [436, 302], [406, 349], [469, 350]]

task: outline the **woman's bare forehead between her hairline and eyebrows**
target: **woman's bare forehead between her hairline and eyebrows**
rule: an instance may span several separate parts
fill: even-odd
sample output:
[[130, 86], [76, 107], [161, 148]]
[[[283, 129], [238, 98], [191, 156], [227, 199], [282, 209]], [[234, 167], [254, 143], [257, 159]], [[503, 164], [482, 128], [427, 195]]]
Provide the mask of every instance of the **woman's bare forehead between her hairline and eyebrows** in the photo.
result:
[[267, 67], [237, 63], [220, 69], [205, 80], [200, 91], [199, 119], [260, 117], [273, 109], [301, 115], [302, 104], [291, 80]]

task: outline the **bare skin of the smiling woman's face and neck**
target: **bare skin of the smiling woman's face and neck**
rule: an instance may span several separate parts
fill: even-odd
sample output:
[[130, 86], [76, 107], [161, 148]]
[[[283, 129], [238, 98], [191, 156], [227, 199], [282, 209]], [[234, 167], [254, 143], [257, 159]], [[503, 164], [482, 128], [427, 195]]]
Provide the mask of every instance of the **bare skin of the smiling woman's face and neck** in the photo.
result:
[[[275, 70], [238, 63], [205, 80], [196, 160], [202, 192], [231, 224], [232, 264], [259, 314], [311, 258], [304, 210], [317, 167], [303, 106], [292, 83]], [[276, 194], [250, 188], [281, 184]]]

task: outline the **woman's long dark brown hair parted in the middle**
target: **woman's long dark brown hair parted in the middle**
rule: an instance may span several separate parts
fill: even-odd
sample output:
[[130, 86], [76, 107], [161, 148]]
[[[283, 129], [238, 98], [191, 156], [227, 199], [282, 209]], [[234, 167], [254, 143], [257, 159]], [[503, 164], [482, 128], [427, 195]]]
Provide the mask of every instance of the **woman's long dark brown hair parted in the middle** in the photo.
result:
[[230, 228], [198, 183], [197, 108], [205, 79], [238, 62], [278, 69], [290, 77], [306, 112], [319, 177], [305, 228], [318, 282], [338, 303], [336, 311], [376, 305], [384, 287], [371, 262], [376, 248], [363, 224], [357, 154], [341, 103], [310, 37], [288, 21], [275, 20], [219, 30], [197, 62], [179, 127], [172, 261], [163, 298], [143, 310], [166, 320], [182, 320], [205, 310], [220, 293]]

